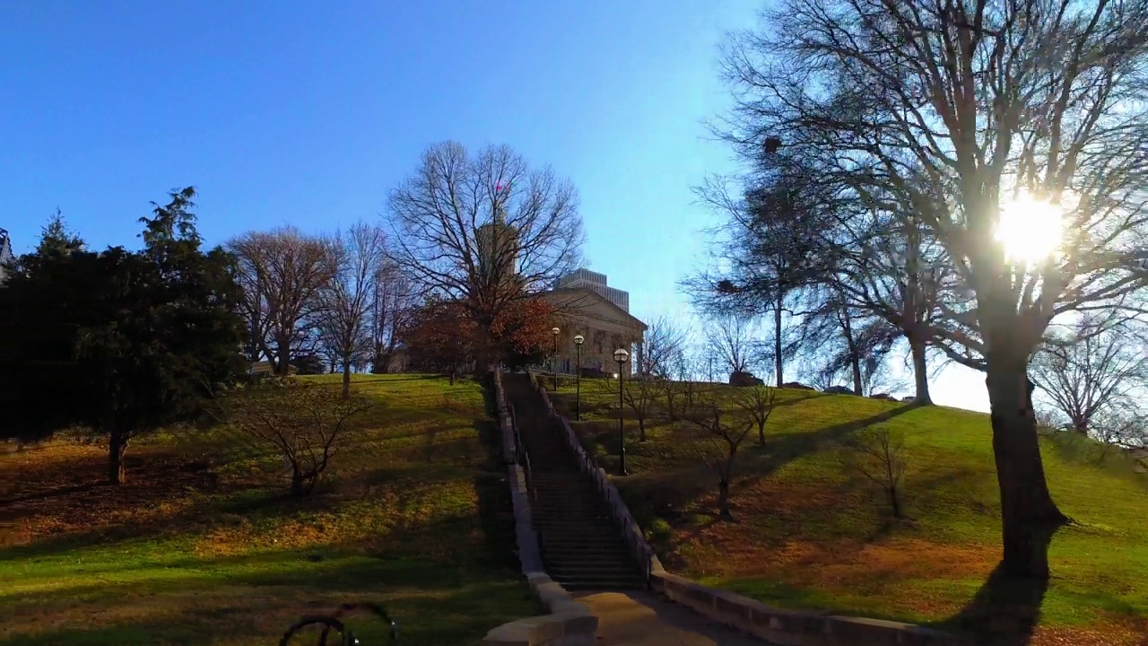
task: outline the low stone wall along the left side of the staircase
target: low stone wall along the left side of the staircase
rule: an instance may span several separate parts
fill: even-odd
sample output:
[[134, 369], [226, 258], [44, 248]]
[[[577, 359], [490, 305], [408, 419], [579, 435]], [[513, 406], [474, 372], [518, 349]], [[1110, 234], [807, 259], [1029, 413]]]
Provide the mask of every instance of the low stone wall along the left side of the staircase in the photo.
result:
[[482, 639], [482, 646], [592, 646], [598, 631], [598, 617], [590, 613], [585, 603], [579, 603], [566, 589], [552, 580], [542, 568], [538, 537], [530, 522], [530, 502], [526, 490], [526, 474], [511, 461], [515, 455], [514, 430], [506, 417], [506, 397], [502, 380], [495, 380], [495, 399], [498, 402], [498, 426], [503, 434], [503, 449], [511, 464], [511, 502], [514, 507], [514, 535], [518, 539], [518, 556], [522, 575], [530, 584], [535, 597], [550, 614], [505, 623], [492, 629]]

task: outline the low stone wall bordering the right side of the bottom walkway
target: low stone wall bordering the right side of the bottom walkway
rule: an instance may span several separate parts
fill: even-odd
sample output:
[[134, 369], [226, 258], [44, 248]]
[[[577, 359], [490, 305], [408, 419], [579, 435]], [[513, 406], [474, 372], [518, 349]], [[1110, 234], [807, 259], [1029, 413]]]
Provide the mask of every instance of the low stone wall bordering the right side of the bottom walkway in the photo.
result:
[[920, 625], [770, 608], [669, 572], [653, 572], [651, 587], [719, 623], [778, 646], [957, 646], [951, 635]]

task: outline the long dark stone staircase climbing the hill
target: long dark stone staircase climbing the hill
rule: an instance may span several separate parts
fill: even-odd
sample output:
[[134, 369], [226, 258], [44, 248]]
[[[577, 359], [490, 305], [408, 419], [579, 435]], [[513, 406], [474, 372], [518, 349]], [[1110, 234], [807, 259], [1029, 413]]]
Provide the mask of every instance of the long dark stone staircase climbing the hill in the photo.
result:
[[638, 590], [646, 586], [611, 515], [608, 503], [581, 472], [528, 375], [504, 374], [522, 447], [530, 459], [530, 514], [550, 578], [567, 590]]

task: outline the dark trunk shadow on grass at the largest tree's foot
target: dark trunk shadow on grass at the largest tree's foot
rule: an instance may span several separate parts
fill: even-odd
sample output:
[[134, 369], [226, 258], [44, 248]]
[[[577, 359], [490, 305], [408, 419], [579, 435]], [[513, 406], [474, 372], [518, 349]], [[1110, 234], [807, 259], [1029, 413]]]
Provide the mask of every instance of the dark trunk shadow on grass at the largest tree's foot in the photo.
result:
[[[1046, 559], [1058, 529], [1047, 528], [1035, 537]], [[960, 613], [931, 628], [963, 636], [978, 646], [1026, 646], [1040, 622], [1046, 592], [1048, 579], [1013, 576], [1001, 561]]]

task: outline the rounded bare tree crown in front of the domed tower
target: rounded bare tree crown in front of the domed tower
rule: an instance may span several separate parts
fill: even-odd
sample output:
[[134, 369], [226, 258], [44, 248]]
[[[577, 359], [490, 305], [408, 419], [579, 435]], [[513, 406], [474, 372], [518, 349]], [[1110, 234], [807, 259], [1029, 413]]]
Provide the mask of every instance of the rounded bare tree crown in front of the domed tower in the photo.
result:
[[420, 295], [457, 300], [482, 329], [577, 266], [577, 193], [506, 146], [432, 146], [390, 192], [390, 261]]

